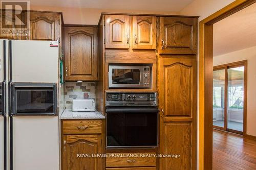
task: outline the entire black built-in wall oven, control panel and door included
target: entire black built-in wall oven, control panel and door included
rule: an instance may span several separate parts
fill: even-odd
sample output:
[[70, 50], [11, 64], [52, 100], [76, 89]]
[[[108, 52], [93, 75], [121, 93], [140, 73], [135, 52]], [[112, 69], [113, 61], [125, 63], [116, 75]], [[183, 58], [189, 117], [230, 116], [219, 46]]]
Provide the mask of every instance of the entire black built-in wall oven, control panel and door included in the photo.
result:
[[157, 147], [156, 93], [106, 93], [106, 148]]

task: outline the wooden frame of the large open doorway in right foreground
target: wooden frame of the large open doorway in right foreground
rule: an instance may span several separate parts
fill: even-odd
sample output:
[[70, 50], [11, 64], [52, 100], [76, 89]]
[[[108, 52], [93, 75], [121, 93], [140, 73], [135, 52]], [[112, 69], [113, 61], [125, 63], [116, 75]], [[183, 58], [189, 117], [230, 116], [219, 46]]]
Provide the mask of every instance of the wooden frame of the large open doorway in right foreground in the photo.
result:
[[199, 22], [199, 169], [212, 169], [213, 25], [256, 0], [236, 0]]

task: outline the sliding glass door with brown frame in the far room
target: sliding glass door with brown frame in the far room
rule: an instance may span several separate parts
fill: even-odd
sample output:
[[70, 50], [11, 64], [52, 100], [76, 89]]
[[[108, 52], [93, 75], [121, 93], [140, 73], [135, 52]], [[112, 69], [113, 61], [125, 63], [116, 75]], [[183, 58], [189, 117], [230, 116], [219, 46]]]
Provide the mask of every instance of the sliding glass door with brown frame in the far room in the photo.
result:
[[247, 61], [214, 67], [213, 126], [243, 134], [246, 125]]

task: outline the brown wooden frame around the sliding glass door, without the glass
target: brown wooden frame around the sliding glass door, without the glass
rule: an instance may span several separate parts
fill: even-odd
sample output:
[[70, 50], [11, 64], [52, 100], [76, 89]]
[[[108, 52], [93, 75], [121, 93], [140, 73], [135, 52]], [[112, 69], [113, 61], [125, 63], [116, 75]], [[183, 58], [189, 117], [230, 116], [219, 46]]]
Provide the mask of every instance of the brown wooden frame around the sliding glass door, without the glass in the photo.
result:
[[[227, 127], [227, 92], [228, 92], [228, 68], [234, 68], [234, 67], [239, 67], [239, 66], [244, 66], [244, 108], [243, 108], [243, 132], [241, 133], [240, 131], [233, 130], [233, 129], [228, 129]], [[223, 127], [218, 127], [218, 126], [212, 126], [215, 129], [221, 129], [224, 131], [228, 132], [233, 132], [241, 135], [246, 135], [246, 125], [247, 125], [247, 60], [242, 60], [242, 61], [237, 61], [237, 62], [232, 62], [232, 63], [227, 63], [227, 64], [222, 64], [222, 65], [217, 65], [214, 66], [214, 70], [225, 70], [225, 94], [224, 94], [224, 128]]]

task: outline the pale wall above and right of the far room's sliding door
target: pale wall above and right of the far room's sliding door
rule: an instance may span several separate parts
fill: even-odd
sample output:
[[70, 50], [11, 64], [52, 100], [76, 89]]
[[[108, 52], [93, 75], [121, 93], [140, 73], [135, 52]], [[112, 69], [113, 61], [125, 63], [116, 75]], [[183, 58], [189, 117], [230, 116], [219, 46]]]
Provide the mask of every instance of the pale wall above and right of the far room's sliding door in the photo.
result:
[[256, 46], [214, 57], [214, 66], [248, 60], [247, 134], [256, 136]]

